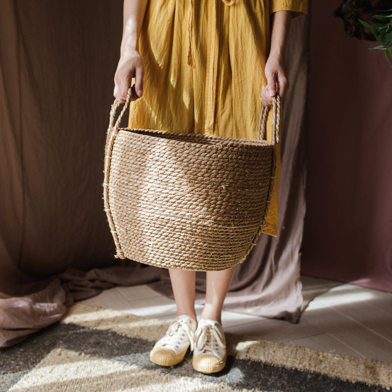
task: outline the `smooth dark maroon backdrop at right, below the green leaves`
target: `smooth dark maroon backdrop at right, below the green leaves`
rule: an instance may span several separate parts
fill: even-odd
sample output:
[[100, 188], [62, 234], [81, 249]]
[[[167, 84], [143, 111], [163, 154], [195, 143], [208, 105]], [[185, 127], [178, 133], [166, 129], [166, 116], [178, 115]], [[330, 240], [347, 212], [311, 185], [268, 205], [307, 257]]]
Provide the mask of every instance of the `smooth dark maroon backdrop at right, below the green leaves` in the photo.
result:
[[302, 272], [392, 292], [392, 68], [341, 2], [312, 2]]

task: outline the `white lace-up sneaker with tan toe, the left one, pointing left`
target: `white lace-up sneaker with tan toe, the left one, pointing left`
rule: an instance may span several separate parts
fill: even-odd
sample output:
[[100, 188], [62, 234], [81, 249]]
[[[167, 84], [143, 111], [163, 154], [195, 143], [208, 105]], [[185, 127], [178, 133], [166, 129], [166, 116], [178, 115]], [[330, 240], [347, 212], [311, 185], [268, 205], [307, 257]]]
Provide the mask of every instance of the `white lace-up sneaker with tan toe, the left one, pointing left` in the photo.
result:
[[163, 338], [150, 351], [150, 361], [160, 366], [174, 366], [180, 363], [188, 347], [194, 346], [197, 322], [188, 315], [177, 316], [168, 327]]

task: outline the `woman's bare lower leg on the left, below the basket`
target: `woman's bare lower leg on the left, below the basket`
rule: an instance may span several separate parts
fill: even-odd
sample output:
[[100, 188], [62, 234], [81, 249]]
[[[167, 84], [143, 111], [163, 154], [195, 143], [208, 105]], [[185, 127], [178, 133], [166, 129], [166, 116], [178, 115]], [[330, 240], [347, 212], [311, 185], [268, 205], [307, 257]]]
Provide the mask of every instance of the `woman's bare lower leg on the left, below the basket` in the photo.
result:
[[195, 279], [196, 272], [169, 268], [177, 316], [188, 315], [196, 320]]

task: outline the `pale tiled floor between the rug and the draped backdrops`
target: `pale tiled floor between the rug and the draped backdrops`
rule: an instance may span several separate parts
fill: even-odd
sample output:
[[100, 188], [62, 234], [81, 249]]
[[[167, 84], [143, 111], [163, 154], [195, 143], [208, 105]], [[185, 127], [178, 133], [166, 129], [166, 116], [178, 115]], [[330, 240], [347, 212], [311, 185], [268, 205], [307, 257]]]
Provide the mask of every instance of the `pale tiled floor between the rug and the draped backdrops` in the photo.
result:
[[[224, 330], [392, 364], [392, 293], [307, 276], [302, 285], [304, 293], [324, 293], [310, 302], [299, 323], [223, 311]], [[82, 303], [166, 320], [176, 312], [172, 299], [147, 285], [118, 286]], [[196, 305], [198, 316], [201, 310]]]

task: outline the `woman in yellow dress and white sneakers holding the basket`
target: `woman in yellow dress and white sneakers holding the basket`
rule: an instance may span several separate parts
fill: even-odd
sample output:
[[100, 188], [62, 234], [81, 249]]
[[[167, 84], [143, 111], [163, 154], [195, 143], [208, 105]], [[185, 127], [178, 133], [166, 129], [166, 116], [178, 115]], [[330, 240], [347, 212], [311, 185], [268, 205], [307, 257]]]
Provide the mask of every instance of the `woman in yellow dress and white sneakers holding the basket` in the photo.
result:
[[[276, 93], [284, 98], [290, 20], [303, 13], [306, 0], [124, 0], [114, 96], [124, 102], [135, 78], [129, 127], [257, 139], [260, 91], [268, 106]], [[277, 169], [263, 230], [273, 236], [279, 160]], [[176, 365], [191, 347], [197, 371], [224, 368], [221, 310], [234, 270], [206, 272], [198, 323], [196, 273], [169, 270], [177, 317], [151, 350], [152, 362]]]

